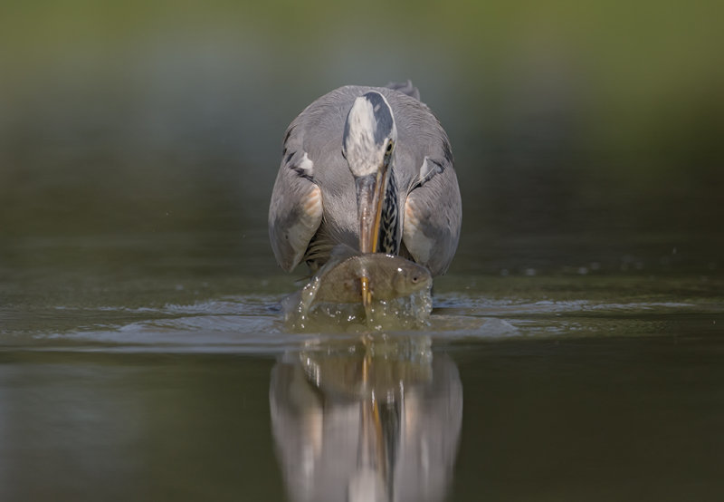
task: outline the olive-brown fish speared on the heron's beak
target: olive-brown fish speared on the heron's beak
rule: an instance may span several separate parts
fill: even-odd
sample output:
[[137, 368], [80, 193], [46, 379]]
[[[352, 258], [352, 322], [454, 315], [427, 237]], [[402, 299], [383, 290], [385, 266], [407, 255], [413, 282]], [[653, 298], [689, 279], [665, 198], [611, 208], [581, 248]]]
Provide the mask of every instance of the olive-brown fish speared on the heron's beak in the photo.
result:
[[402, 256], [367, 253], [332, 257], [310, 282], [314, 302], [361, 304], [361, 278], [367, 277], [373, 301], [386, 301], [429, 290], [433, 276], [423, 265]]

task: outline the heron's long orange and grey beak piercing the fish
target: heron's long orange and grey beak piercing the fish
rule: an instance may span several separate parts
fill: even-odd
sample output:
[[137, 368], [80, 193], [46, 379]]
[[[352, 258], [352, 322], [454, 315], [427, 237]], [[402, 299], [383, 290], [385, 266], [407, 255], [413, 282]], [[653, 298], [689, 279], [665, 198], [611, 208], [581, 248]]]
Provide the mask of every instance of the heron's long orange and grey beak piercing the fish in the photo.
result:
[[[359, 251], [376, 253], [379, 240], [379, 227], [382, 218], [382, 202], [385, 200], [388, 163], [383, 162], [376, 173], [356, 179], [357, 186], [357, 217], [359, 217]], [[372, 291], [369, 277], [363, 273], [360, 278], [362, 286], [362, 304], [368, 309], [372, 302]]]

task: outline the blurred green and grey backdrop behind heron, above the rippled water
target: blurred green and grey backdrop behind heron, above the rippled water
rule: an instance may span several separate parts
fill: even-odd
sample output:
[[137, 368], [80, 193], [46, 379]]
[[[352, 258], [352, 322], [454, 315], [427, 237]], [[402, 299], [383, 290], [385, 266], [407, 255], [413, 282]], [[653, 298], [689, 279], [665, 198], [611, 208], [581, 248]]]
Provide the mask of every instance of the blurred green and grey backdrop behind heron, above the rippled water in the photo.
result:
[[291, 119], [408, 78], [452, 140], [461, 256], [510, 236], [717, 237], [722, 10], [5, 0], [0, 238], [264, 236]]

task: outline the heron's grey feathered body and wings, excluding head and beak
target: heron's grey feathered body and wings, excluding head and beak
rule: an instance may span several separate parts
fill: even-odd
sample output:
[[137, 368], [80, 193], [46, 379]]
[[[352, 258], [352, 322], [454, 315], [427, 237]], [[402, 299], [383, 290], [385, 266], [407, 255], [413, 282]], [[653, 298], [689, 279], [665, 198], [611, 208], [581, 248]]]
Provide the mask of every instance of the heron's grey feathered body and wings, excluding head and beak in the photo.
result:
[[396, 126], [390, 176], [397, 214], [387, 204], [382, 212], [383, 228], [385, 218], [396, 220], [396, 228], [386, 229], [381, 246], [395, 240], [392, 248], [433, 275], [450, 265], [462, 221], [452, 150], [439, 121], [415, 99], [419, 92], [407, 82], [400, 91], [341, 87], [312, 102], [291, 122], [269, 209], [271, 246], [285, 270], [301, 261], [314, 270], [339, 243], [358, 247], [355, 178], [343, 154], [343, 136], [353, 103], [369, 92], [385, 97]]

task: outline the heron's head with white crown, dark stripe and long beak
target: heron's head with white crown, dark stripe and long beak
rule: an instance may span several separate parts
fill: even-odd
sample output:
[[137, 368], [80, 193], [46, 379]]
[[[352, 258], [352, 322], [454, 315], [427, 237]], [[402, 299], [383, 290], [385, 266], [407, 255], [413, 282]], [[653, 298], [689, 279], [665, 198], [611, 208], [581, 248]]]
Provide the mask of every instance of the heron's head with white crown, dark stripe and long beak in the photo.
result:
[[395, 117], [379, 92], [358, 97], [349, 110], [342, 136], [342, 154], [357, 186], [359, 250], [377, 247], [382, 202], [397, 141]]

